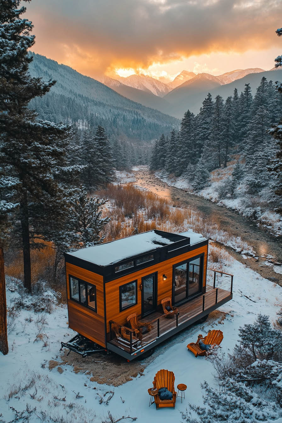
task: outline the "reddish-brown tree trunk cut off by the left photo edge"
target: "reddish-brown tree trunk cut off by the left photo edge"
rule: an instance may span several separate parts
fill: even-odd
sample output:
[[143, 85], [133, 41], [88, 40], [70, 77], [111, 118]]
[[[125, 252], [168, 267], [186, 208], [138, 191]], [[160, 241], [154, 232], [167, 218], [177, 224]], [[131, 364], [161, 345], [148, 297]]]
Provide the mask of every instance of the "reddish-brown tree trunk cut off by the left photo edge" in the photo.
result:
[[0, 247], [0, 298], [0, 352], [5, 355], [8, 354], [8, 338], [4, 253], [2, 247]]

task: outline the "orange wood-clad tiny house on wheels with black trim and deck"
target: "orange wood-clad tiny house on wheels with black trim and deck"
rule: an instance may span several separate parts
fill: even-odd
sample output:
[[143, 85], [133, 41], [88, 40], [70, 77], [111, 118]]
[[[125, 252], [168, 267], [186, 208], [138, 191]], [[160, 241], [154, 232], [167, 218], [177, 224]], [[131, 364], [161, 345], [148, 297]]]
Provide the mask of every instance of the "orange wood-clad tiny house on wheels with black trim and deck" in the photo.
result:
[[[139, 233], [66, 253], [65, 261], [68, 325], [82, 335], [74, 344], [86, 338], [86, 350], [96, 345], [127, 360], [232, 298], [233, 276], [212, 270], [207, 279], [208, 239], [192, 231]], [[229, 278], [224, 289], [217, 275]]]

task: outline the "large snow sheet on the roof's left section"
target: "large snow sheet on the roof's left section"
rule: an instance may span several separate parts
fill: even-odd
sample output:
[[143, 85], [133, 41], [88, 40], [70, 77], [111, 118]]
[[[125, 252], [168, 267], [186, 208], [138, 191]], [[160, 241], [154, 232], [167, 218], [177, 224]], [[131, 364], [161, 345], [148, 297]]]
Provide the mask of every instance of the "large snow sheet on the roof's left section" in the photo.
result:
[[138, 233], [137, 235], [95, 245], [94, 247], [81, 248], [68, 254], [89, 261], [90, 263], [98, 264], [99, 266], [107, 266], [125, 258], [130, 259], [134, 255], [147, 253], [148, 251], [155, 250], [164, 245], [173, 244], [183, 239], [181, 234], [164, 232], [164, 236], [162, 236], [158, 232], [148, 231]]

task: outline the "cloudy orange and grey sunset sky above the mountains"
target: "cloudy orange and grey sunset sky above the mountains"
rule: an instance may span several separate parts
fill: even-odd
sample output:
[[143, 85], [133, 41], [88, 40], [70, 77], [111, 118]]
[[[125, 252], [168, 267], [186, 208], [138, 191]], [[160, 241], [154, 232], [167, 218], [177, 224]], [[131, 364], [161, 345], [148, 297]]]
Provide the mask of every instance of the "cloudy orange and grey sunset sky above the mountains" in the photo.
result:
[[282, 0], [33, 0], [36, 53], [90, 77], [271, 69]]

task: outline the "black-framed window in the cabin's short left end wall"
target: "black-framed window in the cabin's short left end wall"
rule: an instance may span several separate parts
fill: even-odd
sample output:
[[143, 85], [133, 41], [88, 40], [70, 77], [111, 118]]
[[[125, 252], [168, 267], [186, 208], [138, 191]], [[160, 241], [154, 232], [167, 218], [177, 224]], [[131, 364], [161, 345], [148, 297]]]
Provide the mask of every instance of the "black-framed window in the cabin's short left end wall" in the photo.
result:
[[69, 276], [70, 297], [74, 301], [85, 305], [91, 310], [97, 311], [96, 301], [96, 286], [92, 283], [85, 282], [85, 280], [78, 279], [74, 276]]

